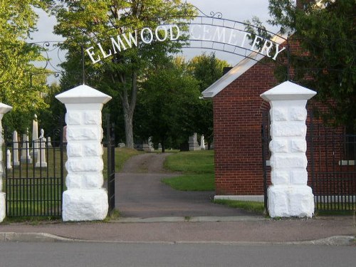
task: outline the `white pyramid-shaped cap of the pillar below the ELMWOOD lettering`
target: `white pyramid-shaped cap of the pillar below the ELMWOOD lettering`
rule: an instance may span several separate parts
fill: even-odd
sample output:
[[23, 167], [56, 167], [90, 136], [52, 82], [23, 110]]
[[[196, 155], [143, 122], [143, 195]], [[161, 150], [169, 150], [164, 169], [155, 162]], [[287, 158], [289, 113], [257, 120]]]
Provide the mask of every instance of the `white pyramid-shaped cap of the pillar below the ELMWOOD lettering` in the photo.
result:
[[64, 104], [85, 104], [101, 103], [105, 104], [111, 100], [110, 95], [106, 95], [88, 85], [79, 85], [73, 89], [56, 95], [56, 98]]

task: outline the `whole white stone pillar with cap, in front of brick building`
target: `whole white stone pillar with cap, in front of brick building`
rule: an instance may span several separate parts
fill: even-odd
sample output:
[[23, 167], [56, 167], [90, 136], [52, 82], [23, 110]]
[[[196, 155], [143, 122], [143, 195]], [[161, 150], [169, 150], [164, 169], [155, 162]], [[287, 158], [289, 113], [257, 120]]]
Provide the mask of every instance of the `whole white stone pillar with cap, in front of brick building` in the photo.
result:
[[272, 218], [313, 216], [314, 196], [307, 185], [305, 105], [315, 94], [289, 81], [261, 94], [271, 105], [268, 211]]

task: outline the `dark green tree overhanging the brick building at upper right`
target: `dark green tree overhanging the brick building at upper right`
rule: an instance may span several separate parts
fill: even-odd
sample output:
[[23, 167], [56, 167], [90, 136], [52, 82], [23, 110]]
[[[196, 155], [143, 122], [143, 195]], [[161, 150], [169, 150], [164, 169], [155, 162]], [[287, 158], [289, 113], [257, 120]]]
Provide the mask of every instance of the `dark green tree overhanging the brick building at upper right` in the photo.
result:
[[[318, 92], [328, 122], [356, 130], [355, 0], [270, 0], [270, 23], [295, 31], [301, 50], [290, 54], [293, 80]], [[280, 80], [285, 78], [278, 69]], [[330, 101], [331, 100], [331, 101]]]

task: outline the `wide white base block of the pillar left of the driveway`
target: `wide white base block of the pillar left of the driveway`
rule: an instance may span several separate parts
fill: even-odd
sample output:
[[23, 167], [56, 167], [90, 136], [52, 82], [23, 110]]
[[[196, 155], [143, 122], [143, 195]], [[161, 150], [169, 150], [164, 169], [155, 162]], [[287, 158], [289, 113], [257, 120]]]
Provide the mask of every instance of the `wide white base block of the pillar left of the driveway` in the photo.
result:
[[100, 221], [108, 214], [105, 189], [69, 189], [63, 192], [63, 221]]

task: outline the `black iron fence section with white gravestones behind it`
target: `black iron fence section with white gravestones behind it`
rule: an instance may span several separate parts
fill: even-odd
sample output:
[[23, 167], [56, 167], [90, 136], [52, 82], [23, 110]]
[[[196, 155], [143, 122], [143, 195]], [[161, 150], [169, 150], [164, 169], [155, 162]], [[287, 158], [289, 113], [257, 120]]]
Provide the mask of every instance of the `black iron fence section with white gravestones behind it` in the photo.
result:
[[44, 132], [33, 141], [28, 141], [28, 132], [6, 137], [6, 216], [61, 216], [66, 147], [63, 126], [53, 131], [51, 140]]

